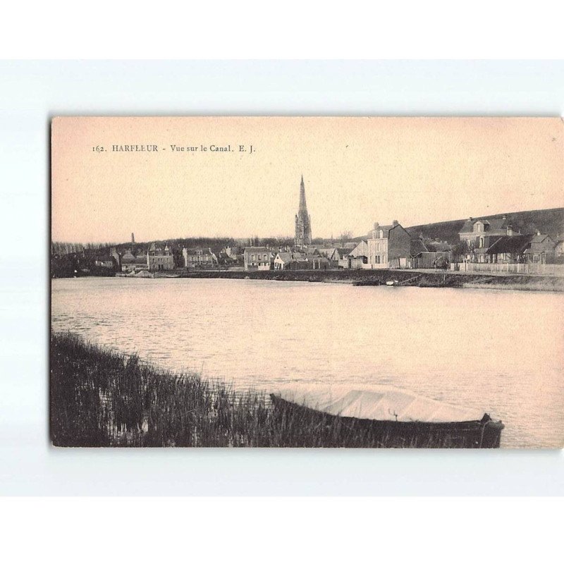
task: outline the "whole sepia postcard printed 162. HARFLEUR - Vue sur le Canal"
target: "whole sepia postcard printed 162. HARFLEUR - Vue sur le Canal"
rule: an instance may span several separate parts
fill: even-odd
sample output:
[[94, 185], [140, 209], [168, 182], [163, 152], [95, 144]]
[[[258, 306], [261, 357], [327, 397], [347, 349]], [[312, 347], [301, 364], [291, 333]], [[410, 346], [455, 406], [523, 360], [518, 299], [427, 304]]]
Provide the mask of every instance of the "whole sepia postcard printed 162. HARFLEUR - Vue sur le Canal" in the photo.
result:
[[55, 446], [562, 448], [560, 118], [56, 117]]

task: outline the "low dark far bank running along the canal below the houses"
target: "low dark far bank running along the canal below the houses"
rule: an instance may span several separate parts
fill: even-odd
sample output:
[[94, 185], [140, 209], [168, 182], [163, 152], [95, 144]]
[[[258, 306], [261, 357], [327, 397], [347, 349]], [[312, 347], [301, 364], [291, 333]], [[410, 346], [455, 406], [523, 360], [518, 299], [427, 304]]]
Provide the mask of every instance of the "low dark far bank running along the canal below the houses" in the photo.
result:
[[[171, 274], [154, 273], [156, 278]], [[537, 274], [474, 274], [460, 271], [429, 270], [264, 270], [264, 271], [175, 271], [174, 278], [227, 278], [282, 282], [350, 283], [357, 286], [396, 286], [419, 288], [484, 288], [564, 292], [563, 276]]]

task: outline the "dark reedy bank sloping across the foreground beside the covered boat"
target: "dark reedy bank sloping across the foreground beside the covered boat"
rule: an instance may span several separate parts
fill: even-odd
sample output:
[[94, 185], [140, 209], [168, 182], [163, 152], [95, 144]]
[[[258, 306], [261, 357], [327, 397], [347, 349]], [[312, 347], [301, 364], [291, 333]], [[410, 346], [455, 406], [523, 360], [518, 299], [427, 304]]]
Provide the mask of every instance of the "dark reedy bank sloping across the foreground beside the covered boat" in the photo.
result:
[[450, 446], [382, 443], [341, 418], [278, 412], [264, 393], [159, 369], [73, 333], [51, 336], [50, 398], [54, 446]]

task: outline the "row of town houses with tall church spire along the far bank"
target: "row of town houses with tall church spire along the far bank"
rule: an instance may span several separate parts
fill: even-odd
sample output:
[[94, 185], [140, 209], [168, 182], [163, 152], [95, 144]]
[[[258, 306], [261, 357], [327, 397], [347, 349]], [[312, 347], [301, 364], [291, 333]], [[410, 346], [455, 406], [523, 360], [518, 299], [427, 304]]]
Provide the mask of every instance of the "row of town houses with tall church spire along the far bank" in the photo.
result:
[[[305, 183], [300, 182], [300, 203], [295, 215], [293, 241], [265, 245], [184, 247], [162, 241], [131, 245], [125, 252], [106, 248], [94, 257], [85, 250], [74, 253], [74, 274], [120, 274], [152, 276], [152, 273], [194, 270], [331, 270], [331, 269], [450, 269], [453, 271], [508, 271], [527, 274], [536, 267], [563, 262], [564, 238], [529, 230], [522, 233], [510, 216], [467, 219], [458, 242], [448, 243], [409, 233], [397, 220], [374, 223], [360, 240], [312, 239], [312, 221], [307, 212]], [[82, 258], [82, 260], [81, 260]], [[52, 257], [51, 262], [61, 259]], [[53, 264], [51, 264], [53, 269]], [[53, 273], [51, 273], [53, 274]], [[56, 273], [54, 274], [56, 276]]]

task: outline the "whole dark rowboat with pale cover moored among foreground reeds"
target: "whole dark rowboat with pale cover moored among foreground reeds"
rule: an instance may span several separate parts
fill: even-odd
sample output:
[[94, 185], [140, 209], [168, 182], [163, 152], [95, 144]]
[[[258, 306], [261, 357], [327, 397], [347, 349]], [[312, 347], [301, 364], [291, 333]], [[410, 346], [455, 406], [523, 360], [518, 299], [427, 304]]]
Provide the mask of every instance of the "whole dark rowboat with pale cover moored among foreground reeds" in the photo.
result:
[[271, 394], [281, 417], [359, 433], [367, 446], [412, 448], [498, 448], [504, 425], [466, 409], [397, 388], [288, 389]]

